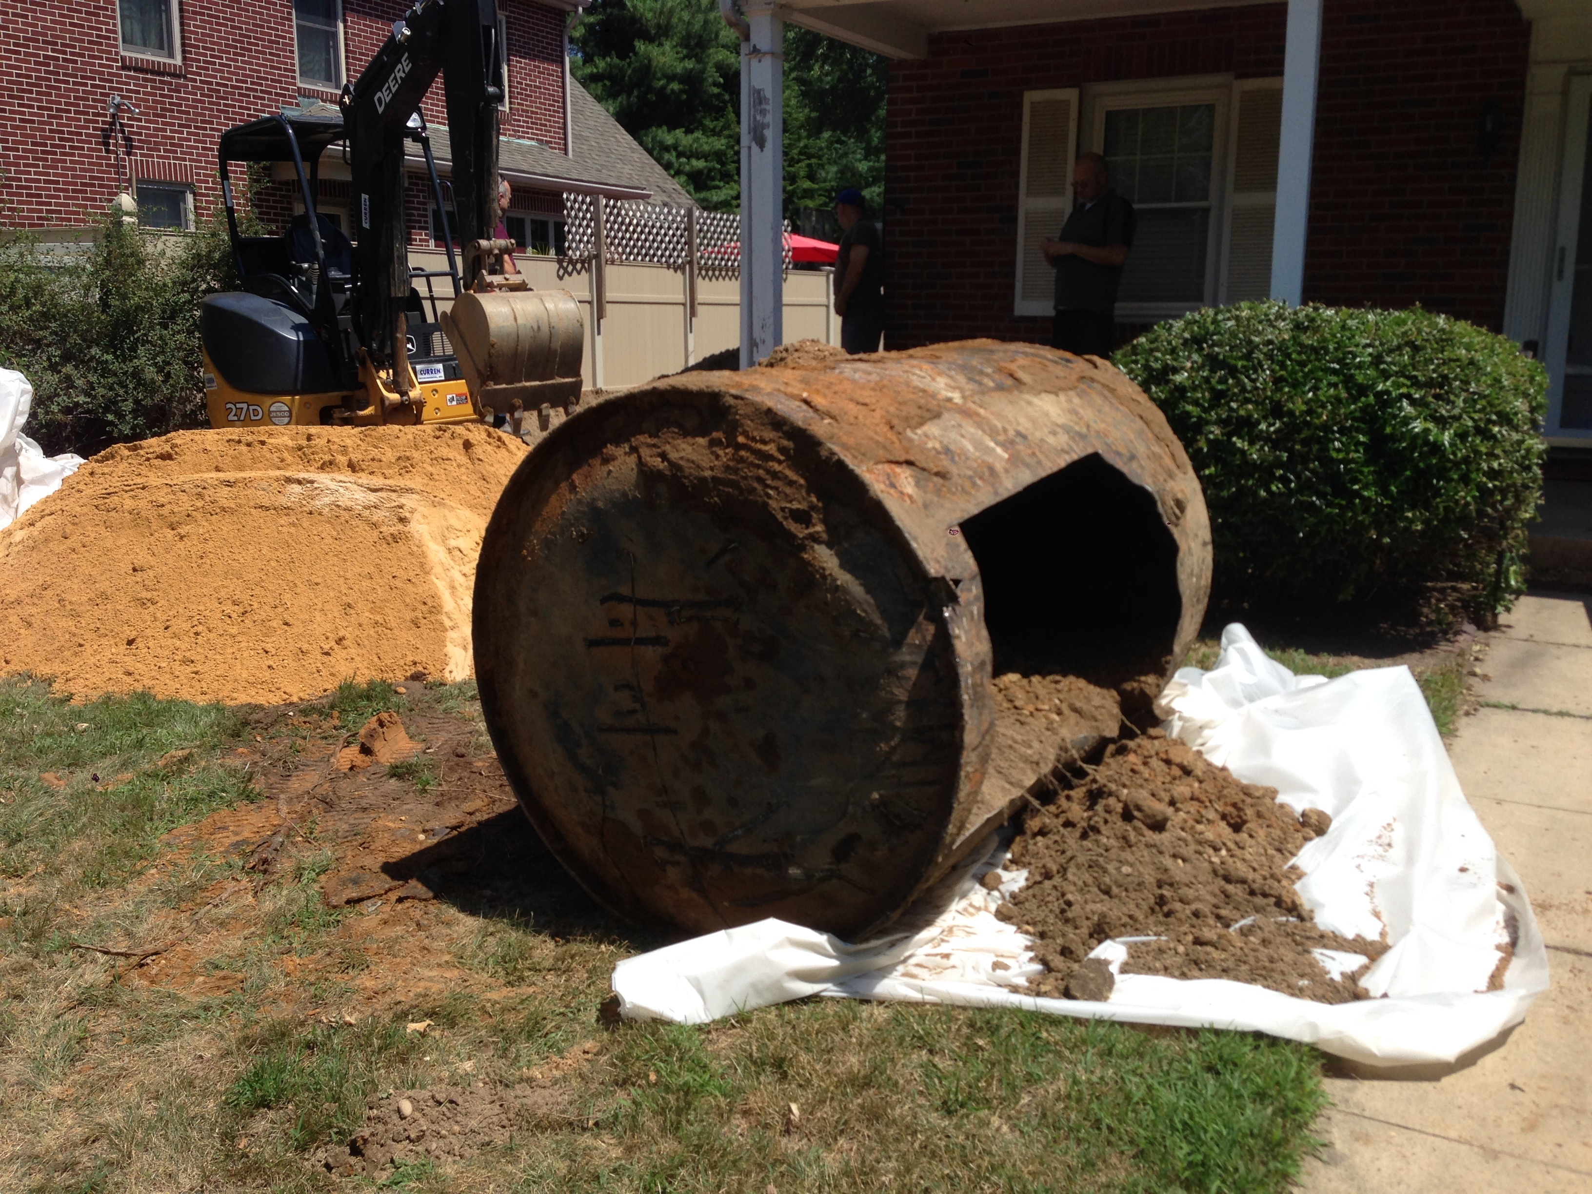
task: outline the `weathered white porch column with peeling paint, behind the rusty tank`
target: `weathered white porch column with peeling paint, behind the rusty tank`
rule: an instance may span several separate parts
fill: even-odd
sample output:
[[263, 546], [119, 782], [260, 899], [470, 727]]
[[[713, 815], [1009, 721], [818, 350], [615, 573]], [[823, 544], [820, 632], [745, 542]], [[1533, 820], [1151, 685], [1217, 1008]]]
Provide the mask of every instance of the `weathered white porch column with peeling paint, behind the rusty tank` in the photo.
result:
[[785, 22], [772, 0], [742, 5], [740, 43], [740, 368], [785, 339]]

